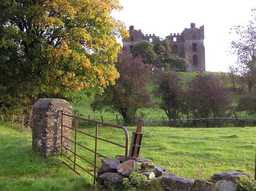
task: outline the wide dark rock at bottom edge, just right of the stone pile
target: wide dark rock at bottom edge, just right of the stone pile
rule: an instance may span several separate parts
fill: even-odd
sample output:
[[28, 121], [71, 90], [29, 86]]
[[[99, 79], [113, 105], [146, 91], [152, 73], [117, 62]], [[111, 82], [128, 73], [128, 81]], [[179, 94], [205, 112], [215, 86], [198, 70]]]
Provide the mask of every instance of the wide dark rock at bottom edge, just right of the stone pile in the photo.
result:
[[195, 181], [195, 179], [177, 177], [174, 174], [165, 174], [159, 179], [162, 187], [168, 191], [188, 191]]

